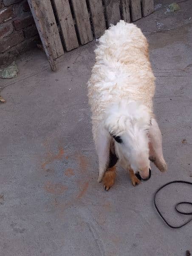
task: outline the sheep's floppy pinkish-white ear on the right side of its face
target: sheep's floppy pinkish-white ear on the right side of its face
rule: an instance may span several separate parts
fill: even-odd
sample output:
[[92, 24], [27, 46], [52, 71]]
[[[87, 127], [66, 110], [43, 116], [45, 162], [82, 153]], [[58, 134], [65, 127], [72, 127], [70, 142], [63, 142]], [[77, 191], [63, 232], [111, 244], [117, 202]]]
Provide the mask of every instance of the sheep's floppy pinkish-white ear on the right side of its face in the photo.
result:
[[152, 118], [149, 130], [150, 160], [161, 171], [167, 171], [167, 163], [164, 160], [162, 150], [162, 135], [157, 121]]

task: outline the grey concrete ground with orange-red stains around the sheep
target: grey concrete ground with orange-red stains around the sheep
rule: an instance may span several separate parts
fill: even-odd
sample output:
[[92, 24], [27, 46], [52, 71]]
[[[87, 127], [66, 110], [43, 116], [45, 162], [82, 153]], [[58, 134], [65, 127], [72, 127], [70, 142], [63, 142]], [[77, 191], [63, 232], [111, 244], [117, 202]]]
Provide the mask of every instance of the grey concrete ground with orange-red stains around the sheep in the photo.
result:
[[[158, 3], [162, 6], [157, 6]], [[133, 187], [121, 168], [115, 185], [97, 183], [98, 160], [90, 125], [86, 82], [95, 41], [65, 54], [51, 72], [44, 52], [17, 60], [15, 79], [0, 80], [1, 256], [185, 256], [192, 223], [173, 230], [153, 206], [171, 180], [192, 181], [192, 1], [138, 20], [150, 44], [156, 80], [154, 108], [163, 134], [168, 172]], [[182, 143], [183, 141], [183, 143]], [[158, 204], [171, 224], [189, 186], [165, 188]]]

